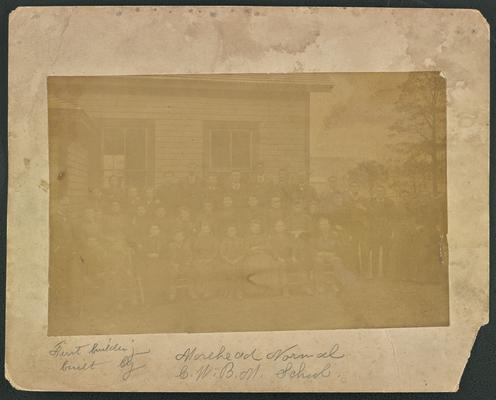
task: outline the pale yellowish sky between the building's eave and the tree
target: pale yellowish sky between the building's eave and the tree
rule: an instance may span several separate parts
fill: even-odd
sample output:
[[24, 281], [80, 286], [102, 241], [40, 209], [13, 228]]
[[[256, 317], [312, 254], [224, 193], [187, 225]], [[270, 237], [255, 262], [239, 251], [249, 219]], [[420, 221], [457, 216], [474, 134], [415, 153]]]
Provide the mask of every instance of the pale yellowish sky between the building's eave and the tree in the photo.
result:
[[406, 78], [406, 73], [335, 74], [331, 92], [311, 95], [310, 157], [385, 161], [397, 119], [394, 103]]

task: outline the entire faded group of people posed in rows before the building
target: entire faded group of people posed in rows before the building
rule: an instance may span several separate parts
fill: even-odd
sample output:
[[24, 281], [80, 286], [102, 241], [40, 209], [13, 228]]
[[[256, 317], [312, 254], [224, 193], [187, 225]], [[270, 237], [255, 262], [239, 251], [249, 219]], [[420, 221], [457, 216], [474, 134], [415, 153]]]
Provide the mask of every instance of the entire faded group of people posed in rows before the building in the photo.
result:
[[179, 180], [168, 171], [140, 190], [113, 177], [90, 190], [80, 213], [60, 200], [51, 215], [54, 279], [83, 298], [145, 305], [339, 292], [349, 277], [440, 279], [442, 199], [402, 192], [393, 201], [382, 186], [366, 197], [356, 182], [343, 190], [333, 176], [318, 193], [305, 173], [290, 179], [286, 170], [243, 178], [192, 171]]

